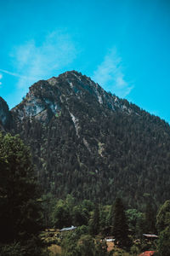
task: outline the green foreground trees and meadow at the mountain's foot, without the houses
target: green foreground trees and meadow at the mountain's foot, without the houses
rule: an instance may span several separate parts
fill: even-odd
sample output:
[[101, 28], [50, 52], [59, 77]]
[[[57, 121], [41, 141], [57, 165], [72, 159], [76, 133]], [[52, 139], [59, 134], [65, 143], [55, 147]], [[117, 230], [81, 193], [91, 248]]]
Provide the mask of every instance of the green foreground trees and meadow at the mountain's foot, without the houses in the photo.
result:
[[[0, 133], [2, 256], [139, 255], [144, 250], [167, 256], [170, 253], [170, 201], [156, 213], [151, 200], [145, 195], [144, 212], [139, 212], [125, 207], [118, 197], [111, 205], [103, 205], [90, 200], [77, 203], [72, 195], [65, 199], [42, 195], [29, 148], [20, 137]], [[75, 230], [61, 232], [69, 226]], [[144, 233], [155, 233], [159, 238], [145, 241]], [[114, 237], [115, 247], [111, 251], [108, 251], [106, 236]], [[60, 253], [50, 251], [54, 245], [61, 248]]]

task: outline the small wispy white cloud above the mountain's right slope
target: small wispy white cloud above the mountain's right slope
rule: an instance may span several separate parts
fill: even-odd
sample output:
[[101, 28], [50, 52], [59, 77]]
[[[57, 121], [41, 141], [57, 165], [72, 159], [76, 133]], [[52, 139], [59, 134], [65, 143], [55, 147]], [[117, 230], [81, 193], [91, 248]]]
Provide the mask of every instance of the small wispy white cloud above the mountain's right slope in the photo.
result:
[[93, 79], [105, 90], [110, 90], [116, 96], [125, 97], [133, 89], [133, 84], [127, 82], [122, 69], [122, 59], [116, 48], [113, 48], [94, 71]]

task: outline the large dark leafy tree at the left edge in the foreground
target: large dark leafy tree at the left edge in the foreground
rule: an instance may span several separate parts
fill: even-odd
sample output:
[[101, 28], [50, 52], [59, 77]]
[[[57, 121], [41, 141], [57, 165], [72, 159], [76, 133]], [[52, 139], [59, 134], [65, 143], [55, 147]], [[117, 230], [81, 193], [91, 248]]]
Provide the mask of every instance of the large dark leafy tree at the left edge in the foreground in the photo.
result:
[[42, 229], [38, 195], [29, 149], [20, 137], [0, 133], [0, 242], [12, 243], [3, 250], [15, 252], [18, 241], [23, 245]]

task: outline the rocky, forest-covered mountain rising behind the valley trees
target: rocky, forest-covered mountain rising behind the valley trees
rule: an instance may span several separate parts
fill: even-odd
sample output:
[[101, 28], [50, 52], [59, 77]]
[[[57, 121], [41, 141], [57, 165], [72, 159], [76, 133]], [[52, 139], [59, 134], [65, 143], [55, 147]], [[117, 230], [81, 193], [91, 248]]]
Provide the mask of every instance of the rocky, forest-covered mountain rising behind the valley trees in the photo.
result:
[[170, 196], [170, 126], [76, 71], [40, 80], [8, 111], [3, 130], [31, 147], [45, 193], [140, 207]]

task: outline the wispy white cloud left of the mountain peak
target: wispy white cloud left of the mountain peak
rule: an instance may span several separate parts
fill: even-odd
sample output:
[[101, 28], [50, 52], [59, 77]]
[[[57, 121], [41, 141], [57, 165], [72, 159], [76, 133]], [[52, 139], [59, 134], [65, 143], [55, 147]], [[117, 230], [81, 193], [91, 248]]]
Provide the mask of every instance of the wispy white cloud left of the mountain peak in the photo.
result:
[[11, 56], [16, 73], [8, 73], [19, 77], [18, 88], [26, 89], [39, 79], [57, 75], [76, 58], [77, 49], [69, 35], [52, 32], [41, 43], [30, 40], [20, 45]]

